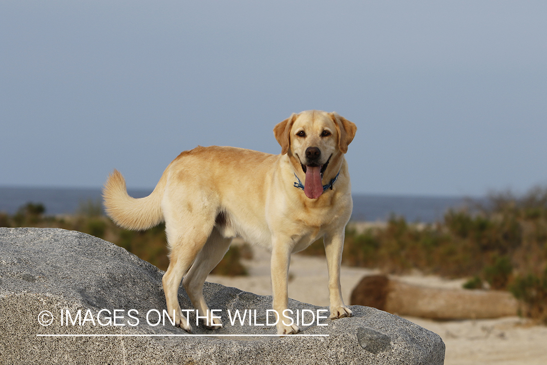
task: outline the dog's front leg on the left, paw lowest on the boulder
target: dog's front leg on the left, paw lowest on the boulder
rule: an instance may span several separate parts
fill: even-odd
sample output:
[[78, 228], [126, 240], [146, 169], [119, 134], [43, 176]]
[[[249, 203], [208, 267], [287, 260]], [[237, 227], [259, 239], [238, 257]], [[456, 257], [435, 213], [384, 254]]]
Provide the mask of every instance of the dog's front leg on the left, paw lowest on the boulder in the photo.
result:
[[[283, 311], [287, 309], [288, 305], [287, 277], [291, 251], [291, 247], [289, 247], [287, 242], [276, 242], [274, 240], [271, 257], [271, 277], [272, 291], [274, 293], [273, 308], [277, 319], [277, 334], [294, 334], [299, 331], [294, 321], [283, 316]], [[285, 314], [289, 316], [289, 313], [286, 312]]]

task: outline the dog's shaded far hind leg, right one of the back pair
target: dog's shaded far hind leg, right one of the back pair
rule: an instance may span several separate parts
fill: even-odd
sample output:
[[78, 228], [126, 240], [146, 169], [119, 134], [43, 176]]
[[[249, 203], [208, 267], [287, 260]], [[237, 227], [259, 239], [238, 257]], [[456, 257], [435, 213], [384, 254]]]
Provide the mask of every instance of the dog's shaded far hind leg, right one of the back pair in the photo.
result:
[[203, 324], [210, 329], [222, 327], [222, 321], [219, 318], [213, 318], [212, 313], [208, 311], [209, 307], [205, 302], [205, 298], [203, 298], [203, 284], [207, 279], [207, 275], [211, 273], [211, 270], [217, 266], [226, 251], [228, 251], [231, 241], [231, 238], [224, 238], [217, 228], [213, 228], [205, 246], [197, 254], [194, 264], [182, 281], [182, 285], [192, 305], [198, 310], [200, 317], [207, 316], [207, 320], [203, 321]]

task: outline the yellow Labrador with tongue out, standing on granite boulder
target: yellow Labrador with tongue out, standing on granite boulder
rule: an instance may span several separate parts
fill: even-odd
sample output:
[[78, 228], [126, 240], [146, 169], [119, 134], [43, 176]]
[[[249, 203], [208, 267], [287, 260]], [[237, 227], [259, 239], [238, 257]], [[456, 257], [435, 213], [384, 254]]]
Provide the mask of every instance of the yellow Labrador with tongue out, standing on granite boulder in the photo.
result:
[[[207, 275], [234, 237], [271, 250], [272, 307], [277, 333], [299, 332], [280, 316], [287, 309], [290, 254], [323, 237], [329, 273], [330, 318], [350, 317], [342, 300], [340, 262], [352, 212], [351, 184], [344, 154], [357, 127], [337, 113], [305, 111], [277, 124], [281, 154], [235, 147], [196, 147], [167, 166], [146, 198], [127, 194], [114, 170], [103, 188], [104, 206], [119, 226], [144, 230], [165, 221], [170, 263], [162, 284], [167, 311], [177, 326], [191, 327], [178, 303], [178, 287], [200, 316]], [[183, 279], [184, 276], [184, 279]], [[222, 327], [219, 318], [203, 321]]]

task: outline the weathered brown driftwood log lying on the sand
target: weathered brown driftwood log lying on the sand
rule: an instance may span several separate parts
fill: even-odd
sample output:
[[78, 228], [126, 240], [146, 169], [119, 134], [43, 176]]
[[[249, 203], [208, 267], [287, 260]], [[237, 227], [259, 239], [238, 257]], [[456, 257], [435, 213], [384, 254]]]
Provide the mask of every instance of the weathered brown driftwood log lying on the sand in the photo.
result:
[[353, 289], [350, 303], [400, 316], [435, 320], [515, 316], [519, 306], [509, 292], [430, 288], [389, 279], [385, 275], [363, 277]]

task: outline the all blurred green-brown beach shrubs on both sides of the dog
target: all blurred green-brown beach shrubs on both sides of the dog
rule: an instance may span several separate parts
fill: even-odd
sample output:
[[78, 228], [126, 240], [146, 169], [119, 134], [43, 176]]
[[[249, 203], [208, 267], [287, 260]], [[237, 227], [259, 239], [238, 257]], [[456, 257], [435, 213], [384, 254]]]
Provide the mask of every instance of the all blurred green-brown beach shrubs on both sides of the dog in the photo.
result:
[[[165, 227], [129, 231], [103, 215], [100, 201], [80, 204], [75, 215], [47, 216], [46, 208], [28, 202], [15, 215], [0, 214], [3, 227], [57, 227], [78, 230], [113, 242], [166, 270]], [[447, 210], [434, 223], [409, 223], [392, 215], [387, 222], [345, 232], [342, 263], [379, 269], [385, 274], [420, 271], [446, 278], [470, 278], [468, 289], [509, 290], [520, 300], [522, 315], [547, 317], [547, 188], [523, 196], [492, 193], [469, 200], [465, 207]], [[302, 254], [324, 256], [323, 240]], [[232, 245], [213, 271], [246, 275], [242, 259], [252, 257], [248, 244]]]

